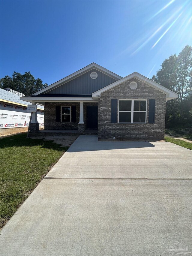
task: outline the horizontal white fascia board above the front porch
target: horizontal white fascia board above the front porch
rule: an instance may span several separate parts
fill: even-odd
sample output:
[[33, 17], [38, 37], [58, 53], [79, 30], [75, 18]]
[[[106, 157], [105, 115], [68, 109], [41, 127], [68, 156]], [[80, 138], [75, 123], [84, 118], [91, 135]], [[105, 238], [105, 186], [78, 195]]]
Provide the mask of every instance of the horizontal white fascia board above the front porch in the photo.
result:
[[93, 102], [93, 98], [83, 98], [83, 97], [20, 97], [21, 100], [25, 101], [35, 101], [35, 102]]

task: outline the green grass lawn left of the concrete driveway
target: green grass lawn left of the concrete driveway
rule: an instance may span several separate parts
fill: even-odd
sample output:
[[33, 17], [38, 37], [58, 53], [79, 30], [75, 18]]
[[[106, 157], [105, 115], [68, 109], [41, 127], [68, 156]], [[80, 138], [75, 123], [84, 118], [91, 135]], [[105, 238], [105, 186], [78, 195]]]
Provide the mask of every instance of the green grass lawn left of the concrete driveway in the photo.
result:
[[67, 149], [26, 134], [0, 139], [0, 228]]

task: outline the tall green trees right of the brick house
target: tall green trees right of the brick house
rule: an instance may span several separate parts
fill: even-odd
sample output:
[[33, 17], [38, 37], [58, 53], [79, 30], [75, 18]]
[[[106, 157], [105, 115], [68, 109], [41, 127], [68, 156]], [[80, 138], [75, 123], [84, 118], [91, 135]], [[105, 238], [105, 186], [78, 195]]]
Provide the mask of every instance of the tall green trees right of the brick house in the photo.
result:
[[192, 123], [192, 47], [186, 45], [177, 56], [170, 55], [152, 80], [178, 93], [178, 99], [167, 101], [166, 127]]

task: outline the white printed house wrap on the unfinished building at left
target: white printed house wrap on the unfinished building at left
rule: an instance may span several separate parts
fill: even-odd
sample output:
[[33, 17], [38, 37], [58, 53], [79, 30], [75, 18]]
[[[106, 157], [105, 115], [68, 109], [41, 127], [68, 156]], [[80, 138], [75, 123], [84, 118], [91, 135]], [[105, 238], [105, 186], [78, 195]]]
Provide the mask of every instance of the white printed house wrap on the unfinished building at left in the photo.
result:
[[[27, 107], [0, 102], [0, 129], [29, 126], [31, 113]], [[37, 110], [37, 120], [44, 125], [44, 110]]]

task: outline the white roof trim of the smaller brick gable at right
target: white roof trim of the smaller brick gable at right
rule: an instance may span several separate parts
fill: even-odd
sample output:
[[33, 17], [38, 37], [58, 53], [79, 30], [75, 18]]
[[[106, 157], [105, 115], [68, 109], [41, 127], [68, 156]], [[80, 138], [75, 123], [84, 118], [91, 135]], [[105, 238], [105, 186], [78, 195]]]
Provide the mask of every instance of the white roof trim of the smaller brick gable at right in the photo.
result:
[[94, 92], [94, 93], [92, 93], [92, 98], [93, 99], [98, 98], [97, 95], [101, 95], [102, 92], [106, 92], [107, 90], [109, 90], [109, 89], [111, 89], [111, 88], [113, 88], [113, 87], [131, 79], [131, 78], [137, 78], [138, 80], [142, 81], [143, 83], [146, 83], [146, 84], [152, 86], [153, 88], [165, 93], [167, 101], [171, 100], [171, 99], [178, 98], [177, 93], [167, 89], [166, 87], [154, 82], [153, 80], [151, 80], [151, 79], [149, 79], [149, 78], [147, 78], [147, 77], [145, 77], [145, 76], [143, 76], [143, 75], [141, 75], [137, 72], [134, 72], [134, 73], [132, 73], [132, 74], [130, 74], [130, 75], [128, 75], [128, 76], [126, 76], [126, 77], [124, 77], [124, 78], [122, 78], [122, 79], [120, 79], [120, 80], [118, 80], [118, 81], [116, 81], [116, 82], [114, 82], [114, 83], [112, 83], [112, 84]]

